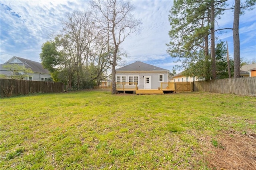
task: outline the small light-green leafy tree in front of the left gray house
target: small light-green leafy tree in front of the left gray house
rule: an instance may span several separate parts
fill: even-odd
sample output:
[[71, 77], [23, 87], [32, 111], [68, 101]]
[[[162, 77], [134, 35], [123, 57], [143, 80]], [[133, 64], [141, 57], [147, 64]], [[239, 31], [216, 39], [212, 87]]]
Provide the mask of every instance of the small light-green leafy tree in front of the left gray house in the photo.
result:
[[34, 73], [30, 68], [18, 64], [6, 64], [3, 68], [11, 72], [8, 76], [10, 79], [24, 79], [29, 76], [28, 73]]

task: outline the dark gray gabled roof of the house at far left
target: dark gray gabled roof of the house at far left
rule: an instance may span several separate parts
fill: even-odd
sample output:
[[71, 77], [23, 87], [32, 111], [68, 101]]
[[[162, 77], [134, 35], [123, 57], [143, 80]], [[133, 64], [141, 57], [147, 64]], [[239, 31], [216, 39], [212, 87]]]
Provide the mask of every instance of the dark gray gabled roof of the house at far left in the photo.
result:
[[12, 62], [14, 59], [17, 59], [18, 61], [16, 62], [17, 64], [24, 64], [24, 66], [26, 68], [30, 68], [33, 72], [36, 73], [44, 73], [44, 74], [50, 74], [49, 71], [47, 69], [44, 69], [42, 64], [36, 61], [32, 61], [29, 59], [24, 59], [24, 58], [20, 58], [20, 57], [16, 57], [13, 56], [11, 59], [9, 59], [8, 61], [6, 61], [4, 64], [0, 65], [0, 69], [4, 70], [4, 68], [2, 66], [6, 65], [6, 64], [12, 64], [14, 62]]

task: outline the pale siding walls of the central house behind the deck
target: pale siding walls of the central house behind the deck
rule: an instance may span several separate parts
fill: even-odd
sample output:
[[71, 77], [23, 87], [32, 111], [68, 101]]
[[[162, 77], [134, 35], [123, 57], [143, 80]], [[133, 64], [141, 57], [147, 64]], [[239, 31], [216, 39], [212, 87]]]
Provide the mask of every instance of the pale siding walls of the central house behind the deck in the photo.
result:
[[145, 76], [150, 76], [151, 77], [151, 89], [158, 89], [160, 87], [161, 82], [159, 82], [159, 75], [163, 75], [163, 81], [162, 82], [168, 82], [168, 72], [167, 71], [155, 71], [155, 72], [116, 72], [116, 80], [117, 76], [121, 76], [121, 81], [122, 81], [122, 76], [126, 76], [126, 82], [129, 82], [129, 76], [138, 76], [138, 89], [144, 89], [144, 81], [145, 79], [143, 77]]

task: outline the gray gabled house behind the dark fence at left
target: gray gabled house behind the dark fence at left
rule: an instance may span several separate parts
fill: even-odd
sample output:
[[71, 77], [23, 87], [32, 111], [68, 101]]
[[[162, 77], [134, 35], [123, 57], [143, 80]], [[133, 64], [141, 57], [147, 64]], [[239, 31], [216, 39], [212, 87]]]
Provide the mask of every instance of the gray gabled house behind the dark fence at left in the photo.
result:
[[8, 71], [3, 67], [4, 65], [7, 65], [7, 64], [18, 64], [18, 65], [23, 65], [26, 68], [30, 68], [34, 73], [28, 73], [28, 77], [25, 77], [25, 80], [47, 81], [47, 79], [51, 77], [50, 72], [47, 69], [44, 69], [41, 63], [16, 57], [16, 56], [13, 56], [4, 64], [0, 65], [0, 74], [7, 75], [7, 76], [12, 75], [11, 71]]

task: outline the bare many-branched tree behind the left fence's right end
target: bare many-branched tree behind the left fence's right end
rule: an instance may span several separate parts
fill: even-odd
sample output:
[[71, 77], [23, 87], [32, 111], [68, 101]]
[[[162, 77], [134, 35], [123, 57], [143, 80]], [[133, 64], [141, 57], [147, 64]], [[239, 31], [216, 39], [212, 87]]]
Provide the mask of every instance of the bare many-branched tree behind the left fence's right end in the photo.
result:
[[63, 22], [63, 47], [70, 55], [77, 75], [77, 87], [80, 88], [82, 67], [87, 61], [91, 47], [95, 40], [95, 26], [89, 12], [74, 11], [67, 14], [67, 20]]

